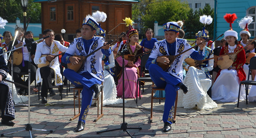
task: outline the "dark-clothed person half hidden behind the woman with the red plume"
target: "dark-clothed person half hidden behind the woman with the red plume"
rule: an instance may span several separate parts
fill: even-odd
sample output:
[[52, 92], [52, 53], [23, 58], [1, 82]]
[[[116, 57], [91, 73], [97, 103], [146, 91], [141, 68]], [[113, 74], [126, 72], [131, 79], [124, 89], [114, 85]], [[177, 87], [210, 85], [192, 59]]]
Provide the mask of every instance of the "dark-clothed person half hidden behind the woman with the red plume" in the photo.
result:
[[[213, 50], [213, 55], [219, 56], [219, 55], [220, 55], [220, 50], [221, 50], [221, 48], [222, 48], [223, 46], [225, 46], [226, 43], [227, 43], [227, 41], [226, 41], [224, 38], [222, 38], [222, 39], [220, 40], [220, 46], [216, 47], [216, 48]], [[220, 68], [217, 66], [217, 62], [218, 62], [218, 60], [217, 60], [217, 58], [215, 58], [215, 59], [214, 59], [214, 64], [213, 64], [213, 69], [212, 69], [212, 82], [211, 82], [212, 84], [211, 84], [211, 85], [214, 84], [214, 81], [215, 81], [215, 79], [216, 79], [217, 73], [218, 73], [219, 70], [220, 70]]]

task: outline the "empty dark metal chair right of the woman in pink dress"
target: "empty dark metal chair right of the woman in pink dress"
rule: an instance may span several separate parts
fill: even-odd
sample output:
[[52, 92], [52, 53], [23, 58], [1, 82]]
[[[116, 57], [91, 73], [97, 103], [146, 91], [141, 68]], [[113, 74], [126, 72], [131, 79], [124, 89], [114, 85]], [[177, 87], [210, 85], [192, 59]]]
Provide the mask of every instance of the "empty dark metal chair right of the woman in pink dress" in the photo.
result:
[[[149, 54], [145, 54], [141, 57], [140, 75], [142, 75], [142, 72], [148, 73], [148, 70], [146, 70], [145, 68], [148, 57], [149, 57]], [[139, 94], [140, 99], [141, 99], [141, 81], [152, 82], [152, 79], [150, 77], [140, 77], [137, 79], [137, 84], [139, 84], [139, 89], [140, 89], [140, 94]], [[144, 85], [142, 85], [142, 92], [144, 93]], [[138, 85], [136, 87], [136, 103], [137, 103], [137, 100], [138, 100]]]

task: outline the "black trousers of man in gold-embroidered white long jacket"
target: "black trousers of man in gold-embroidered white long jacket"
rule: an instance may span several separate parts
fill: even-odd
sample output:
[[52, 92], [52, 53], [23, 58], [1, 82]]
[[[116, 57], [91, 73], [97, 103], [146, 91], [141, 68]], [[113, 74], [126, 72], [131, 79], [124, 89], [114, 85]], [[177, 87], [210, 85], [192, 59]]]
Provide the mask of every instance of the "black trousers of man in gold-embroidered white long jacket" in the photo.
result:
[[53, 69], [49, 67], [40, 68], [40, 75], [42, 78], [42, 89], [41, 89], [41, 97], [47, 97], [48, 89], [52, 88], [51, 79], [55, 77], [55, 72]]

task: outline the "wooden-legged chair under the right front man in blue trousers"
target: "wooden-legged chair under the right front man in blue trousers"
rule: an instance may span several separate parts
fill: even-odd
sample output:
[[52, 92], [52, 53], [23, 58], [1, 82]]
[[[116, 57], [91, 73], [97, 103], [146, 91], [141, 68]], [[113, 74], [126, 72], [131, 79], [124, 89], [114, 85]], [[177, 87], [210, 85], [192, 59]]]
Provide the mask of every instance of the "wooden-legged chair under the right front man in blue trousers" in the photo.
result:
[[[153, 96], [153, 93], [154, 91], [156, 90], [159, 90], [159, 91], [164, 91], [164, 88], [157, 88], [155, 85], [154, 85], [154, 82], [152, 82], [152, 86], [151, 86], [151, 111], [150, 111], [150, 122], [152, 123], [153, 121], [153, 99], [165, 99], [165, 98], [162, 98], [162, 97], [154, 97]], [[176, 122], [176, 109], [177, 109], [177, 101], [178, 101], [178, 91], [176, 91], [176, 99], [175, 99], [175, 105], [174, 105], [174, 115], [173, 115], [173, 118], [172, 118], [172, 122], [175, 123]]]

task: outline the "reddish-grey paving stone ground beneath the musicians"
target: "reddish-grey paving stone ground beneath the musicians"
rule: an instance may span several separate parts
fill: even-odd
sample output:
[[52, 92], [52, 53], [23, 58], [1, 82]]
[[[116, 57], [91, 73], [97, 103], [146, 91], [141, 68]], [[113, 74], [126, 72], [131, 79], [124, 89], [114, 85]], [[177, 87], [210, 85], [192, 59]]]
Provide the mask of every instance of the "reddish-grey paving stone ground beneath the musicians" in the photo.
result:
[[[34, 83], [32, 83], [34, 84]], [[146, 83], [141, 99], [138, 99], [138, 107], [134, 99], [125, 99], [125, 121], [128, 128], [141, 127], [142, 130], [128, 129], [133, 137], [256, 137], [256, 103], [240, 101], [237, 103], [216, 102], [218, 108], [214, 109], [184, 109], [177, 108], [176, 122], [172, 124], [172, 130], [165, 133], [162, 131], [162, 114], [164, 101], [154, 99], [153, 121], [149, 121], [151, 106], [151, 83]], [[32, 87], [32, 86], [31, 86]], [[33, 86], [34, 87], [34, 86]], [[122, 104], [112, 104], [103, 107], [104, 116], [97, 122], [97, 107], [91, 106], [85, 129], [82, 132], [75, 132], [78, 118], [70, 121], [74, 115], [73, 90], [66, 95], [66, 88], [63, 90], [63, 99], [60, 99], [57, 86], [54, 91], [56, 95], [48, 96], [48, 104], [41, 104], [38, 95], [31, 92], [30, 123], [34, 129], [53, 130], [53, 133], [32, 130], [33, 137], [130, 137], [123, 130], [97, 134], [97, 131], [118, 129], [121, 127]], [[25, 102], [28, 104], [28, 102]], [[76, 104], [78, 102], [76, 101]], [[9, 133], [22, 130], [28, 123], [28, 107], [15, 106], [15, 120], [13, 127], [0, 124], [0, 133]], [[77, 108], [76, 108], [77, 109]], [[145, 113], [143, 113], [143, 112]], [[6, 137], [29, 137], [28, 131], [17, 132], [5, 135]]]

